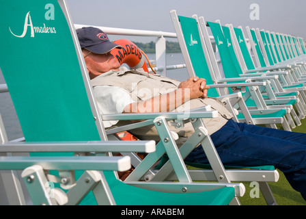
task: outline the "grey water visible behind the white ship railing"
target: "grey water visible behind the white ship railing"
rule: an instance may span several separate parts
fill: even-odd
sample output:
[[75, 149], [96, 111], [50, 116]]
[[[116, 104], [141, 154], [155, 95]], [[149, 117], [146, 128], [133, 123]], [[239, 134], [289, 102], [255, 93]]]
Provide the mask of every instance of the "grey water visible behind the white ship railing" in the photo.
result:
[[[150, 53], [147, 54], [150, 60], [155, 59], [154, 55], [155, 54], [150, 54]], [[169, 53], [166, 56], [167, 56], [167, 65], [184, 64], [182, 53]], [[167, 77], [177, 79], [179, 81], [184, 81], [188, 79], [188, 74], [186, 68], [173, 69], [173, 70], [167, 70]], [[0, 70], [0, 83], [5, 83], [1, 70]], [[19, 125], [19, 120], [14, 105], [12, 103], [12, 99], [8, 92], [0, 93], [0, 114], [3, 119], [8, 140], [22, 138], [23, 131], [21, 130], [21, 127]]]

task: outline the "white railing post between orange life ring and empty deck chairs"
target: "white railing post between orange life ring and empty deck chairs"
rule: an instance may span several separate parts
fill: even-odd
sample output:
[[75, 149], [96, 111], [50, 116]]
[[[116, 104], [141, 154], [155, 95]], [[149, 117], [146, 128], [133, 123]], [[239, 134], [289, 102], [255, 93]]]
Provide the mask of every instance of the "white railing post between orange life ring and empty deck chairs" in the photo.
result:
[[163, 36], [156, 39], [156, 66], [158, 67], [158, 74], [166, 76], [166, 40]]

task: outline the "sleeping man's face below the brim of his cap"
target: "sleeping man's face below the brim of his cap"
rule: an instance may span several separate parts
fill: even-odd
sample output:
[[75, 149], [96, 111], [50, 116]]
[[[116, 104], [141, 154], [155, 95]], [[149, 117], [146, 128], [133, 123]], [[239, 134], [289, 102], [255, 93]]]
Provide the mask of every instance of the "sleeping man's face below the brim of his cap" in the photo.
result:
[[[87, 53], [89, 51], [83, 51], [83, 55], [87, 55]], [[121, 65], [110, 52], [105, 54], [89, 53], [85, 57], [85, 62], [89, 70], [90, 79], [106, 73], [109, 70], [117, 70]]]

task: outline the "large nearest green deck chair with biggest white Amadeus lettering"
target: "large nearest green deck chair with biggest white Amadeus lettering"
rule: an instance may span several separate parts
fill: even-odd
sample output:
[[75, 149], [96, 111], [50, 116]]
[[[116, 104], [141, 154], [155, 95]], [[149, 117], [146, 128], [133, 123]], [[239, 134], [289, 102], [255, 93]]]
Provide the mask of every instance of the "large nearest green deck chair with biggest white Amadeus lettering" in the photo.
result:
[[[228, 205], [236, 199], [236, 196], [243, 194], [244, 186], [240, 183], [230, 183], [227, 175], [223, 174], [223, 165], [214, 150], [205, 126], [201, 119], [197, 119], [216, 116], [217, 112], [204, 112], [204, 109], [188, 113], [101, 116], [92, 95], [85, 62], [66, 1], [51, 0], [48, 3], [38, 0], [6, 1], [2, 3], [0, 10], [2, 18], [0, 27], [3, 33], [0, 44], [3, 51], [0, 67], [25, 136], [25, 142], [13, 145], [5, 143], [1, 146], [5, 146], [5, 153], [14, 153], [13, 149], [31, 152], [31, 156], [26, 160], [23, 158], [16, 160], [14, 157], [8, 156], [1, 157], [0, 167], [15, 170], [27, 165], [33, 167], [33, 164], [38, 164], [46, 170], [55, 168], [55, 172], [50, 172], [48, 175], [51, 176], [48, 177], [64, 184], [68, 182], [68, 186], [65, 188], [68, 190], [66, 195], [69, 205], [94, 205], [97, 203], [111, 205]], [[18, 62], [16, 62], [16, 57], [18, 57]], [[224, 176], [223, 183], [193, 183], [190, 180], [191, 177], [186, 171], [180, 151], [178, 151], [167, 125], [167, 120], [184, 120], [191, 118], [190, 116], [194, 118], [194, 124], [198, 125], [197, 133], [191, 140], [197, 144], [201, 143], [207, 153], [212, 155], [213, 165], [217, 166], [219, 174]], [[99, 161], [103, 162], [105, 159], [104, 156], [100, 157], [98, 153], [89, 153], [95, 157], [85, 157], [85, 159], [80, 153], [81, 156], [73, 158], [77, 161], [81, 160], [81, 163], [69, 166], [67, 161], [70, 158], [67, 157], [72, 156], [75, 151], [83, 151], [84, 147], [89, 146], [93, 149], [96, 144], [96, 146], [100, 145], [98, 147], [102, 149], [94, 149], [94, 151], [113, 151], [110, 149], [112, 144], [109, 142], [102, 124], [102, 120], [107, 119], [148, 119], [141, 125], [156, 124], [158, 131], [163, 134], [162, 141], [156, 145], [156, 151], [153, 152], [155, 154], [149, 153], [147, 157], [148, 159], [152, 157], [158, 159], [158, 156], [167, 152], [172, 164], [170, 165], [171, 171], [173, 172], [174, 169], [176, 176], [178, 176], [178, 182], [122, 182], [117, 179], [116, 172], [111, 171], [116, 169], [114, 166], [94, 167], [94, 165], [99, 165]], [[141, 125], [138, 124], [138, 127]], [[105, 144], [96, 143], [100, 141]], [[60, 143], [57, 144], [57, 142]], [[83, 145], [78, 146], [78, 144]], [[193, 145], [193, 148], [197, 144]], [[45, 149], [45, 145], [51, 146], [50, 150]], [[126, 145], [127, 149], [124, 149]], [[103, 149], [103, 146], [106, 148]], [[130, 151], [129, 149], [132, 149], [132, 152], [137, 151], [135, 149], [137, 142], [135, 141], [115, 143], [113, 146], [118, 147], [116, 151]], [[193, 148], [187, 149], [186, 155], [188, 155], [188, 150], [192, 151]], [[89, 150], [92, 151], [92, 149]], [[141, 150], [143, 150], [143, 146]], [[61, 163], [55, 164], [53, 161], [59, 156]], [[145, 157], [146, 160], [148, 160], [147, 157]], [[30, 162], [27, 162], [28, 160]], [[18, 167], [14, 167], [16, 162], [18, 162]], [[21, 166], [20, 162], [27, 162], [27, 164]], [[96, 163], [89, 165], [88, 162]], [[52, 165], [48, 166], [48, 163]], [[82, 163], [85, 163], [85, 167], [80, 167]], [[143, 163], [141, 162], [141, 164]], [[139, 164], [139, 167], [143, 166], [145, 165]], [[87, 171], [79, 172], [86, 167], [94, 170], [106, 168], [106, 170], [95, 172], [90, 177]], [[81, 180], [80, 183], [72, 186], [67, 179], [64, 180], [63, 176], [58, 174], [58, 170], [66, 168], [78, 170], [74, 174], [77, 182]], [[24, 170], [24, 172], [44, 173], [41, 171], [42, 169], [36, 170], [35, 168], [31, 171]], [[31, 181], [31, 175], [29, 177], [27, 179]], [[64, 177], [67, 176], [64, 175]], [[97, 179], [97, 183], [101, 181], [100, 179], [105, 179], [105, 183], [107, 183], [105, 186], [108, 190], [101, 186], [93, 188], [96, 181], [94, 182], [92, 179]], [[105, 191], [109, 192], [107, 198], [105, 198]], [[29, 192], [33, 192], [33, 189]]]

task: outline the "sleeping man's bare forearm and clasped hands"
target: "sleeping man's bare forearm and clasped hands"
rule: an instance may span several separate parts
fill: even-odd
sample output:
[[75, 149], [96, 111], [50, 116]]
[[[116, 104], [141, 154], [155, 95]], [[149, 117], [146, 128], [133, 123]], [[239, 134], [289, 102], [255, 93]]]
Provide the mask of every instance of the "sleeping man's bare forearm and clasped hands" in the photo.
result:
[[154, 96], [147, 101], [126, 105], [123, 113], [171, 112], [191, 99], [206, 98], [208, 89], [205, 79], [191, 77], [180, 83], [178, 89], [173, 92]]

